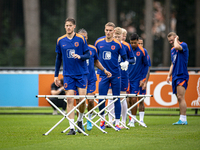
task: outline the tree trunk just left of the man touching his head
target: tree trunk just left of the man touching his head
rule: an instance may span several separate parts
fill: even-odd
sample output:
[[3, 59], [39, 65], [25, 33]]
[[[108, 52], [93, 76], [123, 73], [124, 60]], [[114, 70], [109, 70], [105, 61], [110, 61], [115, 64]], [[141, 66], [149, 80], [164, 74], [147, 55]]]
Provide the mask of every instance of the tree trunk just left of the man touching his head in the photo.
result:
[[169, 33], [170, 28], [170, 3], [171, 0], [165, 0], [165, 38], [164, 38], [164, 48], [163, 48], [163, 66], [169, 66], [169, 60], [170, 60], [170, 48], [169, 48], [169, 42], [167, 40], [167, 34]]

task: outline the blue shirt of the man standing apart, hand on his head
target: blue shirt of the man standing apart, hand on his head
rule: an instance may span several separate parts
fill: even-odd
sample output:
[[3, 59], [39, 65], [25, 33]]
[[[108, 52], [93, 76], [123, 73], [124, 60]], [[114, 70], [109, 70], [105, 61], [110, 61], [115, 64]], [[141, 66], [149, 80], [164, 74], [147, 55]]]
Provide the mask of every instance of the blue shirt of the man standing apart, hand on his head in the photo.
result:
[[180, 43], [182, 50], [176, 50], [174, 47], [171, 49], [171, 61], [173, 63], [172, 80], [176, 79], [189, 79], [187, 70], [189, 49], [185, 42]]

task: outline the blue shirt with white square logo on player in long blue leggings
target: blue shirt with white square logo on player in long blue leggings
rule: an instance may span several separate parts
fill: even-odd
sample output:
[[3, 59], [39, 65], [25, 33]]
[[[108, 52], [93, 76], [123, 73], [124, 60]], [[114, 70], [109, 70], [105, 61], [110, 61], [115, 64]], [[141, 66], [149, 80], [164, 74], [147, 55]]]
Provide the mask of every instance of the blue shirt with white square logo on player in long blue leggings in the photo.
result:
[[[105, 38], [100, 38], [95, 42], [95, 46], [99, 55], [99, 61], [106, 70], [111, 72], [112, 76], [120, 76], [118, 57], [119, 55], [126, 55], [122, 44], [116, 39], [106, 42]], [[97, 73], [105, 75], [100, 69], [98, 69]]]

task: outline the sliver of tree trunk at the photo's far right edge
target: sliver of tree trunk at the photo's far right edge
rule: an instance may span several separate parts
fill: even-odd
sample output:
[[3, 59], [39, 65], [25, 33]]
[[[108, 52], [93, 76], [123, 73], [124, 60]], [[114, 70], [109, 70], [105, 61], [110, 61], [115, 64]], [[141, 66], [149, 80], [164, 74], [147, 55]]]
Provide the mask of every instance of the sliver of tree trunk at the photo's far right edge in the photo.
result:
[[196, 0], [196, 67], [200, 67], [200, 1]]

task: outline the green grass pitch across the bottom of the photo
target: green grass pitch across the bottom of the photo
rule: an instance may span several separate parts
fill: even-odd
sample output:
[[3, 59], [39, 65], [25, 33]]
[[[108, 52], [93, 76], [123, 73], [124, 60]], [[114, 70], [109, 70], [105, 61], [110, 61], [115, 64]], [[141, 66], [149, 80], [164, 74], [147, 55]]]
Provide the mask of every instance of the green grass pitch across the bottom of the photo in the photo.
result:
[[178, 116], [145, 116], [147, 128], [138, 126], [119, 132], [96, 127], [86, 131], [89, 136], [61, 133], [68, 127], [65, 119], [49, 135], [44, 136], [61, 115], [0, 115], [1, 150], [62, 149], [200, 149], [200, 117], [188, 116], [187, 126], [173, 126]]

